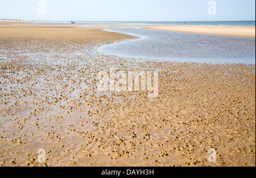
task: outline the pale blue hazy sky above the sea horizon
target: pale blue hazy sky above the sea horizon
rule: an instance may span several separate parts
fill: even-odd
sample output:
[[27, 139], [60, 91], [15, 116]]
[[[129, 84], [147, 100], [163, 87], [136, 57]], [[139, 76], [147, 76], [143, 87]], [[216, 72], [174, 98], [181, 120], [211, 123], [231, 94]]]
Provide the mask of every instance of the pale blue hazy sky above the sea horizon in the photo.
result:
[[[0, 18], [83, 21], [255, 20], [255, 0], [0, 0]], [[40, 8], [40, 9], [39, 9]], [[40, 11], [41, 13], [38, 13]]]

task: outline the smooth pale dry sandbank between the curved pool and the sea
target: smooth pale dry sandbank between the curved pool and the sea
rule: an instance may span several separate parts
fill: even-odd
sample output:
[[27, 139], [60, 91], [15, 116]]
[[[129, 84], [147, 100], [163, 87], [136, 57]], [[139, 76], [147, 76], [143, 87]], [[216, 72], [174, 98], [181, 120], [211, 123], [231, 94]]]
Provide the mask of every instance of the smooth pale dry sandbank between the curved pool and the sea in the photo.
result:
[[155, 27], [146, 27], [146, 28], [151, 30], [187, 32], [192, 34], [255, 38], [255, 27], [155, 26]]

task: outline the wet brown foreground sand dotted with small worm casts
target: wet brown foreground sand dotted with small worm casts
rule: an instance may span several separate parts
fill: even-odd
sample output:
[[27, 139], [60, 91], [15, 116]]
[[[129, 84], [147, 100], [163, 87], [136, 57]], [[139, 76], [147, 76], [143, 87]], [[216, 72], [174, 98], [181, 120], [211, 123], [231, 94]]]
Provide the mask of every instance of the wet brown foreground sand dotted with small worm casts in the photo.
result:
[[[102, 28], [0, 25], [0, 165], [255, 166], [255, 65], [102, 55], [134, 38]], [[158, 97], [97, 92], [110, 67], [158, 70]]]

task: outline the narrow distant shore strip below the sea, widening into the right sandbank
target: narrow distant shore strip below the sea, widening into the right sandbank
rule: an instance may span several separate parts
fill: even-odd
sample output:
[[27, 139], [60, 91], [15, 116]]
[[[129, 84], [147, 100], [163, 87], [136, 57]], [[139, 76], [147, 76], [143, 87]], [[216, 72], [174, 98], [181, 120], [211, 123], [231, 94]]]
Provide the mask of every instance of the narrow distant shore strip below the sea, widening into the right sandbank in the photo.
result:
[[[42, 24], [41, 24], [42, 23]], [[59, 24], [58, 24], [59, 23]], [[173, 31], [173, 32], [184, 32], [192, 34], [203, 34], [203, 35], [217, 35], [217, 36], [231, 36], [237, 38], [252, 38], [255, 39], [255, 26], [190, 26], [190, 25], [161, 25], [156, 26], [155, 24], [139, 24], [139, 23], [111, 23], [111, 22], [99, 22], [101, 24], [61, 24], [65, 22], [16, 22], [15, 20], [0, 20], [0, 25], [30, 25], [30, 26], [77, 26], [77, 27], [139, 27], [150, 29], [150, 30], [160, 30], [160, 31]], [[111, 26], [109, 26], [111, 24]]]

